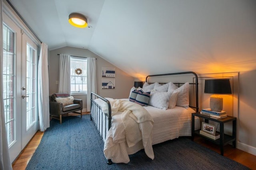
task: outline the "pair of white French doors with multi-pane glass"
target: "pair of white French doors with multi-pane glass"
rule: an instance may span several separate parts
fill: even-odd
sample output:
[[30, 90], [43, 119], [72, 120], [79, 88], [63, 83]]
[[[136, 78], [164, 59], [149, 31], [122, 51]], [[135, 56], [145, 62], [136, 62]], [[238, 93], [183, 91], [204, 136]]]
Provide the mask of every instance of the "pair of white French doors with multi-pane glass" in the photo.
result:
[[3, 13], [3, 98], [13, 162], [38, 130], [37, 46]]

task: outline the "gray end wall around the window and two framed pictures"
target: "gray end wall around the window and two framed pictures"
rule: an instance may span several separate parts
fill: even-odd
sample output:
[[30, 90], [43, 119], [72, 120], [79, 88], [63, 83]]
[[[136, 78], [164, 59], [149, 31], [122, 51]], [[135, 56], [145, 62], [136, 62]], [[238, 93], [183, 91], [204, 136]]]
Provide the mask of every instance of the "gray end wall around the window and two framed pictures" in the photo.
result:
[[[133, 86], [134, 78], [119, 68], [116, 68], [116, 89], [115, 90], [101, 90], [101, 67], [115, 67], [108, 61], [102, 59], [98, 55], [92, 53], [88, 49], [80, 49], [74, 47], [63, 47], [50, 51], [48, 56], [49, 65], [49, 94], [56, 93], [58, 91], [59, 78], [59, 55], [68, 54], [80, 57], [94, 57], [96, 58], [96, 81], [97, 81], [97, 93], [100, 96], [108, 98], [128, 98], [130, 89]], [[83, 100], [83, 109], [86, 109], [86, 95], [74, 95], [74, 98]]]

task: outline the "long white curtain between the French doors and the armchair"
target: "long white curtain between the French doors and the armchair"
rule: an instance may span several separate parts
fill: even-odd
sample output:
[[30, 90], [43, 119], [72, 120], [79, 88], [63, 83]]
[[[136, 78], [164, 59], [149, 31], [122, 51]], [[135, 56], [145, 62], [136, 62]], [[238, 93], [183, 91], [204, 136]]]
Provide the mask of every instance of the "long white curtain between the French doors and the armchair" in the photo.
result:
[[48, 76], [48, 46], [41, 45], [38, 63], [38, 110], [40, 131], [50, 127], [49, 111], [49, 76]]

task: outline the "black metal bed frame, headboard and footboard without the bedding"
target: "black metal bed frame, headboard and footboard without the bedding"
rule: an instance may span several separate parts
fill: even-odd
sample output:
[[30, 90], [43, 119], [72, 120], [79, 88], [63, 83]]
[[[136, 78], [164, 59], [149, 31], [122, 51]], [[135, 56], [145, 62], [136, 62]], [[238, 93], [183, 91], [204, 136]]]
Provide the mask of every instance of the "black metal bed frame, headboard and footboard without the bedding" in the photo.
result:
[[[192, 84], [193, 87], [195, 86], [195, 96], [193, 96], [193, 98], [195, 98], [196, 102], [195, 102], [195, 106], [189, 106], [192, 107], [196, 110], [196, 112], [198, 112], [198, 76], [195, 72], [177, 72], [177, 73], [168, 73], [168, 74], [155, 74], [155, 75], [149, 75], [146, 77], [146, 82], [148, 82], [148, 78], [149, 77], [154, 77], [154, 76], [170, 76], [170, 75], [178, 75], [178, 74], [193, 74], [193, 83], [189, 83]], [[150, 84], [150, 83], [149, 83]], [[160, 83], [160, 84], [164, 84], [164, 83]], [[184, 84], [184, 82], [182, 83], [174, 83], [177, 84], [178, 87], [180, 87], [180, 84]], [[102, 108], [94, 101], [94, 98], [100, 98], [102, 101], [106, 102], [107, 106], [108, 106], [108, 113], [103, 113]], [[105, 123], [101, 123], [100, 120], [103, 121], [103, 119], [105, 119]], [[108, 130], [111, 127], [111, 119], [112, 119], [112, 115], [111, 115], [111, 106], [110, 106], [110, 102], [103, 98], [102, 96], [99, 96], [98, 94], [91, 92], [91, 112], [90, 112], [90, 120], [94, 122], [94, 125], [96, 126], [98, 133], [100, 134], [100, 137], [102, 139], [102, 141], [104, 142], [106, 135], [108, 133]], [[108, 160], [108, 164], [112, 164], [111, 160]]]

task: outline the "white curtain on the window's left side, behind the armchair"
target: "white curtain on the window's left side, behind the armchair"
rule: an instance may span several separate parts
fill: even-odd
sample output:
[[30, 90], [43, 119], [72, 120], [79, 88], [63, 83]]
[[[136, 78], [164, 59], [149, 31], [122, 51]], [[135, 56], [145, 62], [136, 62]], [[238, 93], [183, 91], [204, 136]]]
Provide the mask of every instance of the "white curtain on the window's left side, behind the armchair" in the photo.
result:
[[70, 55], [60, 54], [58, 93], [70, 94]]

